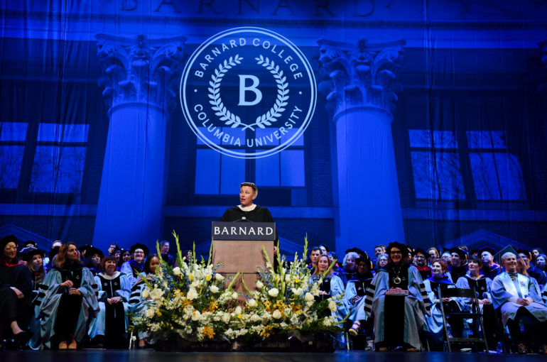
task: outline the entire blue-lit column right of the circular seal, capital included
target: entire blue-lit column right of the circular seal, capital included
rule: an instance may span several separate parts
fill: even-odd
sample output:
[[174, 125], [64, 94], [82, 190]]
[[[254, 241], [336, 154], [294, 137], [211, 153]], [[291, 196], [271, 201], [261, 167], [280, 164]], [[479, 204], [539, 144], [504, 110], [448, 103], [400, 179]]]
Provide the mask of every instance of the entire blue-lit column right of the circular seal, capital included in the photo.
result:
[[340, 234], [336, 250], [371, 249], [379, 243], [404, 242], [393, 136], [396, 82], [404, 41], [348, 45], [320, 40], [320, 62], [336, 129], [337, 197]]

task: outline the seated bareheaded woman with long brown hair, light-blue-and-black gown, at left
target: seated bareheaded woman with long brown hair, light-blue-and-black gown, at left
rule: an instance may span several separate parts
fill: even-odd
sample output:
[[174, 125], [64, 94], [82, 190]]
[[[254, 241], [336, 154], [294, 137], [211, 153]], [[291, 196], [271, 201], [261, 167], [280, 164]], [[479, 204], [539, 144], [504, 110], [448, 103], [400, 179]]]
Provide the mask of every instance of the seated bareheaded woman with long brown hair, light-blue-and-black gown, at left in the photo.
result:
[[77, 349], [87, 334], [87, 321], [99, 308], [93, 275], [82, 266], [75, 243], [63, 243], [53, 268], [43, 281], [40, 305], [41, 337], [45, 348]]

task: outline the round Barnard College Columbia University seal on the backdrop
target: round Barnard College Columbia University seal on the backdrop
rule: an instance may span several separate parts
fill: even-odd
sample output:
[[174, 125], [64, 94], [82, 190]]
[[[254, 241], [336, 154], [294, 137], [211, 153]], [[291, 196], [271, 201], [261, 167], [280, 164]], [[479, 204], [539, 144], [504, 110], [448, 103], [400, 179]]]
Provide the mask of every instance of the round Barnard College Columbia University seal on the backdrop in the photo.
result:
[[283, 36], [233, 28], [195, 50], [180, 79], [188, 125], [207, 146], [236, 158], [261, 158], [291, 146], [315, 111], [308, 60]]

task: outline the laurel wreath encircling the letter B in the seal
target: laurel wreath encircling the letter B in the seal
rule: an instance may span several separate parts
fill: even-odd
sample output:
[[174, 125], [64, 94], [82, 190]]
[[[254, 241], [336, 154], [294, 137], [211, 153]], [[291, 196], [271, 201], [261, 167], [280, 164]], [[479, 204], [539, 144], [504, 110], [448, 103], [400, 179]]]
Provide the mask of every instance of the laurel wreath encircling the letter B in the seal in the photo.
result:
[[220, 82], [222, 82], [222, 78], [226, 75], [228, 70], [232, 69], [232, 67], [241, 64], [243, 57], [235, 55], [234, 57], [229, 57], [228, 60], [224, 60], [224, 62], [220, 63], [217, 69], [215, 69], [215, 74], [211, 75], [212, 80], [209, 82], [210, 87], [207, 88], [209, 90], [209, 103], [212, 105], [212, 110], [215, 111], [215, 115], [219, 116], [220, 120], [224, 121], [226, 126], [230, 126], [232, 128], [242, 126], [242, 131], [247, 128], [251, 128], [251, 130], [254, 131], [254, 126], [259, 128], [271, 126], [273, 122], [277, 121], [283, 111], [285, 111], [284, 107], [288, 104], [288, 83], [287, 78], [283, 76], [283, 70], [279, 70], [279, 66], [268, 57], [264, 58], [260, 55], [254, 59], [259, 65], [270, 71], [273, 78], [276, 79], [277, 84], [276, 103], [273, 104], [271, 109], [269, 109], [269, 111], [265, 114], [256, 117], [254, 124], [243, 124], [239, 116], [233, 114], [226, 108], [226, 106], [224, 106], [222, 98], [220, 97]]

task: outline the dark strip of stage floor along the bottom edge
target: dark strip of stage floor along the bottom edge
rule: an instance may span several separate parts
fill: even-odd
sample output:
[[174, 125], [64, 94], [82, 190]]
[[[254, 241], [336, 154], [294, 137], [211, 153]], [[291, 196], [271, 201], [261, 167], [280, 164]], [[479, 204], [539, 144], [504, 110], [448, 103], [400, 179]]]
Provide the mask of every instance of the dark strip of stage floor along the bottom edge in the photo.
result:
[[101, 351], [85, 349], [82, 351], [4, 351], [0, 352], [2, 362], [251, 362], [251, 361], [291, 361], [291, 362], [504, 362], [526, 358], [526, 361], [546, 361], [545, 356], [517, 354], [484, 353], [444, 353], [444, 352], [364, 352], [337, 351], [335, 353], [166, 353], [155, 351]]

